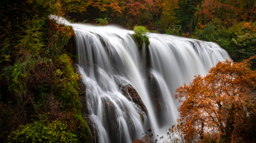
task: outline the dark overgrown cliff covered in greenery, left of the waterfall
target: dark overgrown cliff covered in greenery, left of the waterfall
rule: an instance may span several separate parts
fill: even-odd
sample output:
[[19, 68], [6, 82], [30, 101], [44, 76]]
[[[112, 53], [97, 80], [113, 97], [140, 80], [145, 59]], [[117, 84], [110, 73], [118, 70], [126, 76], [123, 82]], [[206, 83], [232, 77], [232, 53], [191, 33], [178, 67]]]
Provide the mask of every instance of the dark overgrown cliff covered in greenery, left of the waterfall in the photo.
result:
[[[7, 142], [9, 135], [11, 142], [23, 140], [22, 136], [35, 139], [19, 126], [31, 129], [36, 126], [34, 130], [44, 131], [43, 126], [63, 124], [65, 132], [74, 137], [73, 141], [91, 142], [82, 117], [79, 77], [72, 63], [74, 31], [48, 16], [32, 15], [38, 14], [33, 6], [8, 3], [4, 9], [20, 18], [10, 17], [10, 29], [4, 33], [5, 39], [1, 35], [0, 40], [0, 140]], [[28, 9], [26, 17], [20, 13], [23, 8]], [[8, 27], [8, 23], [3, 24]], [[44, 136], [34, 134], [39, 135], [36, 141]]]

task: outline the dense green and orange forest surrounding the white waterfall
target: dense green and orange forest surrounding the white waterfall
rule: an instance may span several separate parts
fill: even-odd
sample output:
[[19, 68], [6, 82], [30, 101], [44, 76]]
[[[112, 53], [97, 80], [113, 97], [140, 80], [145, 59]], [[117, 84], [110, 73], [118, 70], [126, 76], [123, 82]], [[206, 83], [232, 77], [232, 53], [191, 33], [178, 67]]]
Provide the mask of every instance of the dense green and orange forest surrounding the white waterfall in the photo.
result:
[[[218, 43], [236, 63], [218, 63], [209, 75], [196, 76], [189, 85], [177, 89], [175, 97], [182, 103], [181, 116], [168, 132], [169, 142], [234, 142], [234, 139], [255, 142], [255, 3], [255, 0], [1, 1], [0, 140], [92, 141], [90, 120], [84, 118], [86, 111], [82, 108], [86, 104], [85, 87], [74, 65], [74, 31], [72, 26], [56, 23], [52, 15], [58, 15], [72, 23], [116, 24], [127, 29], [140, 25], [144, 26], [143, 34], [148, 29], [152, 33]], [[222, 84], [225, 88], [220, 93]], [[232, 92], [229, 98], [222, 96]], [[196, 100], [199, 96], [205, 99], [204, 103]], [[216, 102], [213, 99], [218, 99], [219, 110], [212, 108]], [[193, 114], [188, 115], [192, 107]], [[206, 108], [212, 108], [212, 113], [197, 112]], [[212, 130], [203, 132], [204, 126]], [[179, 139], [172, 136], [174, 132], [180, 135]], [[195, 138], [197, 135], [199, 138]], [[147, 137], [137, 140], [148, 141]]]

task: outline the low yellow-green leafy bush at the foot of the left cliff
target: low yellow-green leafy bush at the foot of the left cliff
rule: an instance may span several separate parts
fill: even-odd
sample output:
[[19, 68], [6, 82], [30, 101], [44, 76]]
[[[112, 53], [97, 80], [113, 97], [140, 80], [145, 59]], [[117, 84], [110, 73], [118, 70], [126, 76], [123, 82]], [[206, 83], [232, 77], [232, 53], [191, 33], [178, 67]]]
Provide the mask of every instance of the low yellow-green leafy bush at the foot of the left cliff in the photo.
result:
[[61, 142], [75, 143], [76, 135], [72, 133], [65, 121], [54, 120], [48, 122], [46, 120], [35, 121], [31, 124], [20, 125], [19, 129], [13, 131], [9, 136], [9, 142]]

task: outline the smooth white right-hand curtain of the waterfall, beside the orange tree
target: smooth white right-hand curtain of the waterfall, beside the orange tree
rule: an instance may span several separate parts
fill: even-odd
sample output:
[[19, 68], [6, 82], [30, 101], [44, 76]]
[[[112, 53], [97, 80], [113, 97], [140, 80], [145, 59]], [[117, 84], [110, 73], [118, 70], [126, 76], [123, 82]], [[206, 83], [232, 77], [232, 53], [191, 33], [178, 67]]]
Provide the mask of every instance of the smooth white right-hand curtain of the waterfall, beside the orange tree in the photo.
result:
[[177, 118], [179, 103], [172, 98], [175, 89], [188, 83], [194, 75], [206, 75], [217, 62], [230, 57], [213, 42], [154, 33], [150, 34], [149, 53], [151, 80], [160, 91], [153, 100], [154, 106], [161, 105], [161, 112], [156, 110], [156, 114], [159, 134], [163, 135]]

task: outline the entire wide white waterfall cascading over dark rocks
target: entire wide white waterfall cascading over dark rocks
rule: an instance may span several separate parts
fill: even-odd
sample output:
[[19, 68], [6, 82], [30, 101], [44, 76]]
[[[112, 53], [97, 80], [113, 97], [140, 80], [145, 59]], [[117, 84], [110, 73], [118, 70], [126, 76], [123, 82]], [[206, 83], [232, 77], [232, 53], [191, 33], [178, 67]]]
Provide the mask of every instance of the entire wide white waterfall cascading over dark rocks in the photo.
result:
[[[78, 70], [86, 85], [95, 142], [130, 143], [149, 128], [166, 134], [178, 114], [175, 89], [230, 58], [212, 42], [149, 33], [148, 50], [139, 51], [133, 31], [69, 25], [75, 31]], [[145, 59], [151, 66], [145, 66]]]

